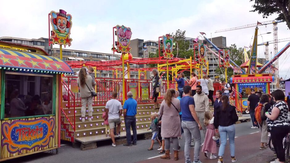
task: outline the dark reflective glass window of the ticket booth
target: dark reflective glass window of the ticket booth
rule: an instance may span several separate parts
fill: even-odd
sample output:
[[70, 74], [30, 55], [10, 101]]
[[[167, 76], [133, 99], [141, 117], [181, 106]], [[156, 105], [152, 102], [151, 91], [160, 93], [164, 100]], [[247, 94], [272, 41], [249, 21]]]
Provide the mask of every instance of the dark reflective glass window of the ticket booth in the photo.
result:
[[53, 76], [6, 72], [4, 118], [52, 114]]

